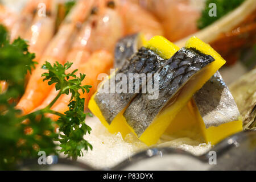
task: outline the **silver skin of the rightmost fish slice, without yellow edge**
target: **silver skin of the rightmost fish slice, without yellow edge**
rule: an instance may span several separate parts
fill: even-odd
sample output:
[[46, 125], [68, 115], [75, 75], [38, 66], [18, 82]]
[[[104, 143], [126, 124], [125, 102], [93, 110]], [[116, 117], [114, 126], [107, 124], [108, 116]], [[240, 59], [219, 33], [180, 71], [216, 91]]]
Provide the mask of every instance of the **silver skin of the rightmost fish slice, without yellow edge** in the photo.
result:
[[240, 117], [236, 102], [218, 71], [195, 93], [193, 100], [206, 128], [237, 121]]

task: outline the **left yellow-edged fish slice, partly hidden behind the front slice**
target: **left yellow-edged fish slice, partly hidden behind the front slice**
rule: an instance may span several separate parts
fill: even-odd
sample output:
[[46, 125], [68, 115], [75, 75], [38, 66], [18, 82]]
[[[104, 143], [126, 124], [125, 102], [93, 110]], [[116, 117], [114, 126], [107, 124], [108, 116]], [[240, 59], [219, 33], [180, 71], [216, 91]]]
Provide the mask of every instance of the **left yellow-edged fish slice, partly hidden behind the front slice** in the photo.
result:
[[[101, 88], [98, 89], [91, 100], [89, 101], [89, 109], [96, 117], [100, 119], [102, 124], [108, 128], [110, 133], [120, 132], [123, 137], [130, 133], [131, 130], [122, 118], [123, 111], [133, 100], [138, 93], [129, 93], [129, 86], [138, 89], [142, 88], [142, 83], [133, 82], [131, 78], [131, 85], [127, 85], [127, 93], [112, 93], [112, 83], [118, 84], [115, 80], [115, 75], [122, 73], [127, 76], [127, 84], [129, 83], [129, 74], [131, 73], [156, 73], [162, 68], [166, 59], [169, 59], [178, 50], [178, 47], [170, 43], [167, 39], [161, 36], [155, 36], [144, 47], [139, 49], [129, 61], [121, 69], [117, 69], [113, 75], [110, 75]], [[103, 92], [104, 88], [108, 88], [108, 92]], [[134, 90], [135, 91], [135, 90]]]

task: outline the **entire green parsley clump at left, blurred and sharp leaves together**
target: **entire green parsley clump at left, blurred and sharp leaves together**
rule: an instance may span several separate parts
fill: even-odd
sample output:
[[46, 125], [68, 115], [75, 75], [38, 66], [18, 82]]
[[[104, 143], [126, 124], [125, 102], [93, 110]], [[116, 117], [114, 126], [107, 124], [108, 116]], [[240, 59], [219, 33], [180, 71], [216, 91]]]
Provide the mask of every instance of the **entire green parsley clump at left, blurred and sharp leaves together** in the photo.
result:
[[[15, 100], [24, 93], [25, 76], [34, 67], [35, 55], [28, 52], [27, 43], [20, 38], [10, 44], [3, 26], [0, 26], [0, 45], [0, 80], [8, 82], [7, 90], [0, 93], [0, 169], [15, 169], [20, 161], [38, 158], [39, 151], [47, 155], [64, 152], [69, 158], [77, 159], [82, 156], [82, 150], [92, 150], [92, 145], [83, 138], [92, 130], [84, 122], [88, 114], [84, 113], [84, 98], [79, 93], [89, 92], [91, 87], [81, 85], [85, 75], [77, 77], [77, 70], [65, 73], [72, 63], [46, 62], [42, 67], [46, 73], [42, 76], [48, 85], [55, 84], [59, 94], [46, 108], [20, 117]], [[69, 93], [72, 96], [68, 111], [61, 114], [50, 109], [62, 94]], [[60, 118], [53, 122], [46, 114]], [[56, 125], [58, 133], [55, 133]]]

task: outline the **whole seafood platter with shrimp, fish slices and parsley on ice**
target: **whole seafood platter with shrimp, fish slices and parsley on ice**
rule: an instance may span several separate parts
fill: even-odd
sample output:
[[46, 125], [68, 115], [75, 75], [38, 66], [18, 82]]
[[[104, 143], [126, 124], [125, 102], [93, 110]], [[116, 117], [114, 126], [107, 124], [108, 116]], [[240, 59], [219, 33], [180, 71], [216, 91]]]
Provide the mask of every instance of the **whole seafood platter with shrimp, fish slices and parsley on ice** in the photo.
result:
[[[152, 147], [201, 156], [255, 130], [255, 68], [231, 85], [222, 71], [243, 67], [241, 52], [255, 51], [256, 1], [236, 0], [213, 19], [209, 3], [27, 0], [17, 13], [1, 1], [0, 67], [17, 57], [26, 64], [17, 62], [10, 79], [0, 73], [0, 127], [13, 125], [6, 131], [18, 136], [0, 128], [0, 147], [9, 139], [18, 148], [14, 160], [0, 151], [0, 169], [23, 160], [24, 148], [32, 158], [47, 149], [96, 168]], [[102, 154], [112, 148], [120, 155]]]

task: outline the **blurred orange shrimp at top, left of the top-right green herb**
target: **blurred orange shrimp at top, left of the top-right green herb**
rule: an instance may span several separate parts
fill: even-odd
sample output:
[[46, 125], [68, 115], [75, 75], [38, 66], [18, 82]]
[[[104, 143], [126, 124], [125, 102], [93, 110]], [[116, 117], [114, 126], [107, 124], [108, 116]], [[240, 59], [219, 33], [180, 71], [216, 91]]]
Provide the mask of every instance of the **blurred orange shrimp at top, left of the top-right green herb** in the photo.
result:
[[200, 6], [203, 5], [203, 1], [141, 0], [139, 2], [141, 6], [156, 15], [164, 28], [164, 36], [172, 42], [197, 31], [196, 21], [201, 16]]

